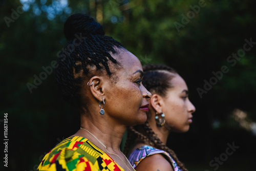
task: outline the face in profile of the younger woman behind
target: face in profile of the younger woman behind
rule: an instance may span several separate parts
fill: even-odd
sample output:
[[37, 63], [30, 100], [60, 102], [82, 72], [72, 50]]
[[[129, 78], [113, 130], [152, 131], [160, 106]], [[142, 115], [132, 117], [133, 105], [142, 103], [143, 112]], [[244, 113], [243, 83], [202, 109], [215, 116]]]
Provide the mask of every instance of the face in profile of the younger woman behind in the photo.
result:
[[167, 91], [162, 112], [165, 114], [166, 123], [171, 127], [170, 131], [186, 132], [196, 109], [188, 99], [185, 81], [177, 75], [171, 82], [173, 87]]

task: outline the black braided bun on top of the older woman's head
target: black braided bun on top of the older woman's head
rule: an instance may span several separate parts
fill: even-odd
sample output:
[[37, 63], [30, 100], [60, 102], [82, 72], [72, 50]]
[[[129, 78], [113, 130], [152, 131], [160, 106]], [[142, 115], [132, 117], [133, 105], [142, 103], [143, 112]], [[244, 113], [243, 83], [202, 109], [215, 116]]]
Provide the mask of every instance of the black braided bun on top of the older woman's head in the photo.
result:
[[97, 23], [92, 17], [86, 14], [78, 13], [71, 15], [65, 25], [65, 37], [70, 40], [75, 38], [75, 34], [82, 33], [84, 35], [104, 35], [103, 27]]

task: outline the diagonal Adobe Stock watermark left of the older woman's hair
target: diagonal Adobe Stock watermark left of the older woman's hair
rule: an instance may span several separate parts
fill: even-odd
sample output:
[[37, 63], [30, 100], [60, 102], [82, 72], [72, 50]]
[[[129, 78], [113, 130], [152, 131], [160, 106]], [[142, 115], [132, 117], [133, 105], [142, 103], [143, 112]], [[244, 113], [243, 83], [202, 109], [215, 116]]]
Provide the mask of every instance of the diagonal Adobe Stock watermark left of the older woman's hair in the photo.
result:
[[[76, 38], [73, 40], [72, 44], [69, 44], [65, 48], [62, 48], [61, 51], [57, 52], [57, 57], [62, 58], [61, 61], [66, 60], [67, 56], [69, 56], [75, 50], [75, 47], [78, 47], [79, 45], [81, 45], [82, 41], [84, 41], [87, 38], [87, 37], [83, 37], [81, 33], [80, 35], [75, 34], [75, 37]], [[40, 86], [40, 84], [42, 83], [42, 80], [47, 79], [48, 75], [51, 75], [53, 72], [53, 69], [56, 69], [56, 68], [58, 68], [56, 60], [51, 61], [50, 66], [47, 66], [47, 67], [42, 66], [42, 70], [44, 71], [40, 72], [38, 76], [34, 74], [33, 83], [27, 82], [26, 84], [30, 94], [32, 93], [32, 90]]]

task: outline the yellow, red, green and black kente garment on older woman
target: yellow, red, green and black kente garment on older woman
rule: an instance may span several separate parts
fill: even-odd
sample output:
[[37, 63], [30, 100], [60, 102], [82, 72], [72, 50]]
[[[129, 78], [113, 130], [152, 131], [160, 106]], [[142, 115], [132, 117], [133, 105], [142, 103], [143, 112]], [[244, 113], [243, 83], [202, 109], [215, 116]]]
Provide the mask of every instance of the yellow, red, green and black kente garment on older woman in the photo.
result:
[[38, 170], [49, 171], [124, 171], [108, 154], [86, 138], [61, 141], [42, 159]]

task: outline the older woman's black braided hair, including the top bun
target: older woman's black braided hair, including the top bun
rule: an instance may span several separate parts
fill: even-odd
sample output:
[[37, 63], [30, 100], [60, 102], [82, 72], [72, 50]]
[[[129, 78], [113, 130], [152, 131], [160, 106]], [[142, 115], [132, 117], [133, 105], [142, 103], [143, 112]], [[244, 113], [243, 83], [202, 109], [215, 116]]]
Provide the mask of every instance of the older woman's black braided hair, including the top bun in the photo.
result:
[[64, 100], [79, 106], [84, 78], [103, 70], [111, 76], [109, 62], [117, 65], [118, 61], [110, 52], [115, 54], [114, 48], [123, 46], [112, 37], [104, 36], [102, 26], [86, 14], [71, 15], [64, 25], [64, 34], [68, 42], [56, 65], [57, 89]]

